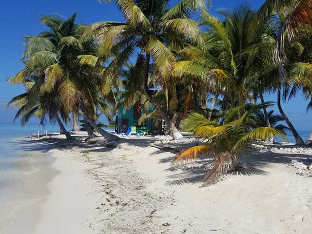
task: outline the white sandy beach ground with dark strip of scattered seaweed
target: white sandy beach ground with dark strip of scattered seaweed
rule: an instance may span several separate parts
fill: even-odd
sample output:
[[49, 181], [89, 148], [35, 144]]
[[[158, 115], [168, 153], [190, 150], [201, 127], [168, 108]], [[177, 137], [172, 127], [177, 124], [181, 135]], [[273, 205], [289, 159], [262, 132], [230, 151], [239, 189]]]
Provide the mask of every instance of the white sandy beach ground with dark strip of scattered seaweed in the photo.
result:
[[209, 162], [170, 168], [175, 154], [151, 147], [153, 138], [116, 149], [54, 141], [47, 147], [59, 174], [34, 234], [312, 233], [312, 174], [289, 166], [311, 150], [250, 153], [238, 175], [203, 188]]

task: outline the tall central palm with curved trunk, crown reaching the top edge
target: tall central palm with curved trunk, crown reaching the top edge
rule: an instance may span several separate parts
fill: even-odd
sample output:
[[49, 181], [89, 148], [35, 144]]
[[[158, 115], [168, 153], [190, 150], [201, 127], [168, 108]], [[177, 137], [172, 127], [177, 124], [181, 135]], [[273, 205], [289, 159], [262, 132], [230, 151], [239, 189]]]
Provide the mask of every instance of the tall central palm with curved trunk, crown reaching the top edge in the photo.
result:
[[[108, 0], [107, 0], [108, 1]], [[90, 26], [85, 35], [97, 34], [101, 56], [112, 59], [104, 75], [105, 82], [113, 82], [125, 63], [137, 56], [137, 78], [132, 87], [139, 87], [154, 105], [158, 115], [165, 121], [175, 139], [182, 138], [173, 121], [156, 101], [156, 90], [150, 90], [149, 79], [161, 82], [166, 89], [170, 85], [175, 55], [183, 41], [195, 41], [199, 28], [190, 16], [198, 9], [204, 9], [209, 0], [181, 0], [169, 8], [169, 0], [114, 0], [122, 11], [125, 22], [98, 22]], [[87, 37], [88, 38], [88, 37]], [[153, 63], [151, 63], [151, 60]], [[137, 88], [136, 88], [137, 89]], [[133, 92], [136, 92], [133, 89]], [[129, 95], [133, 93], [129, 92]]]

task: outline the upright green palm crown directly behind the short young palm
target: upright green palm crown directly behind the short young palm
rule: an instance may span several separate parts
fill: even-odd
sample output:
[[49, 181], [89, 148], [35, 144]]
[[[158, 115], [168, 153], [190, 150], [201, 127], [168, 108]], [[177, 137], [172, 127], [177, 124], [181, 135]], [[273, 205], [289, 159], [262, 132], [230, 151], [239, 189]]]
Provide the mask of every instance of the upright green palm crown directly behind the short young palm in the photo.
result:
[[274, 39], [267, 25], [251, 28], [255, 13], [248, 5], [219, 13], [224, 21], [202, 12], [203, 41], [182, 50], [188, 59], [176, 62], [173, 74], [206, 80], [215, 97], [222, 94], [235, 107], [246, 102], [253, 88], [251, 78], [269, 63], [268, 45]]

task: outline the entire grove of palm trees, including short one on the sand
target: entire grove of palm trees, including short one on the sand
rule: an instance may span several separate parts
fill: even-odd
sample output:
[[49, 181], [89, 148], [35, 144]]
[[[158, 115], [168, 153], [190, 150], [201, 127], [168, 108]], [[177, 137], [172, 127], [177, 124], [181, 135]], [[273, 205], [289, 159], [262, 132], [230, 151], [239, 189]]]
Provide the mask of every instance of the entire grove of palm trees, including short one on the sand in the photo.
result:
[[[251, 142], [286, 139], [288, 129], [297, 144], [305, 143], [282, 105], [303, 94], [307, 112], [312, 109], [311, 0], [266, 0], [258, 10], [244, 3], [218, 10], [219, 18], [210, 14], [210, 0], [107, 2], [118, 6], [124, 21], [84, 25], [76, 22], [77, 13], [42, 16], [46, 31], [24, 37], [24, 69], [8, 78], [25, 87], [6, 106], [18, 109], [14, 120], [57, 122], [71, 139], [62, 120], [79, 131], [82, 117], [89, 138], [96, 130], [117, 141], [98, 117], [113, 122], [117, 110], [121, 117], [132, 108], [131, 125], [148, 122], [151, 133], [157, 129], [174, 139], [188, 130], [207, 143], [174, 161], [213, 154], [207, 185], [236, 170]], [[268, 93], [276, 94], [279, 114], [268, 110]], [[126, 131], [129, 122], [123, 117], [117, 125]]]

